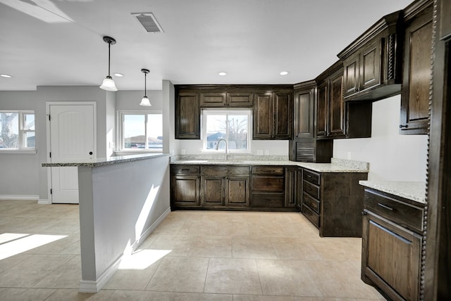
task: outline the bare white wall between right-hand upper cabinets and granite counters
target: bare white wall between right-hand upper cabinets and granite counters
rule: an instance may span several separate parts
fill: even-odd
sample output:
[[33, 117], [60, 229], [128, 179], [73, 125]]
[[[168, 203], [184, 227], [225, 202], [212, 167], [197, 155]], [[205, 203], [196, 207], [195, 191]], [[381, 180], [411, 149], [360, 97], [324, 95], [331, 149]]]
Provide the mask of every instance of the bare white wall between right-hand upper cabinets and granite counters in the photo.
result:
[[333, 157], [370, 163], [369, 180], [426, 181], [427, 135], [400, 135], [400, 95], [373, 103], [371, 138], [333, 141]]

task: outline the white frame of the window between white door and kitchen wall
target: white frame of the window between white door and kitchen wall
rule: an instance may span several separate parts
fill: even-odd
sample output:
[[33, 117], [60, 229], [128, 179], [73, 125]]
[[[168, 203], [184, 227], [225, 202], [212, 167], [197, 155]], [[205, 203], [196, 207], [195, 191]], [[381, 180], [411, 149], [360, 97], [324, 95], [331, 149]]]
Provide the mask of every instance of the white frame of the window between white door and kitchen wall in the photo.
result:
[[[161, 110], [120, 110], [118, 111], [118, 146], [116, 147], [116, 153], [163, 153], [163, 146], [161, 148], [149, 148], [148, 143], [145, 144], [144, 148], [124, 148], [125, 139], [123, 136], [123, 126], [124, 126], [124, 115], [144, 115], [144, 136], [146, 136], [146, 141], [149, 137], [147, 136], [147, 115], [155, 114], [161, 115], [163, 117], [163, 111]], [[163, 126], [163, 122], [161, 122]], [[163, 133], [161, 133], [163, 135]], [[164, 139], [164, 137], [163, 137]]]

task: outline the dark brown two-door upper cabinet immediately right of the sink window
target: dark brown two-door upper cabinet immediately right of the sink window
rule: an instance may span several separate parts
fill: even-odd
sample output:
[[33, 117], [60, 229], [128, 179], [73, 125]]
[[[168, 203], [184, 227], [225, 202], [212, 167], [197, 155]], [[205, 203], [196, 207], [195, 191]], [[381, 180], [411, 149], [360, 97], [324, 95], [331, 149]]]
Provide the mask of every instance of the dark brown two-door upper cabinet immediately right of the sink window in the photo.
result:
[[253, 139], [292, 139], [292, 91], [254, 94]]

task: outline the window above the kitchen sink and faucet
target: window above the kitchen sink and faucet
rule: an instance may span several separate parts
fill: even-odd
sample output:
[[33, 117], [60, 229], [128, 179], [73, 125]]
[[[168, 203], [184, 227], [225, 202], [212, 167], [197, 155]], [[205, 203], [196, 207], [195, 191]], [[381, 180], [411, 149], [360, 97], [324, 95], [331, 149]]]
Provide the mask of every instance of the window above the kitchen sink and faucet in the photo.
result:
[[[250, 152], [251, 110], [203, 110], [204, 151], [216, 151], [219, 139], [226, 139], [230, 153]], [[218, 150], [224, 150], [219, 143]]]

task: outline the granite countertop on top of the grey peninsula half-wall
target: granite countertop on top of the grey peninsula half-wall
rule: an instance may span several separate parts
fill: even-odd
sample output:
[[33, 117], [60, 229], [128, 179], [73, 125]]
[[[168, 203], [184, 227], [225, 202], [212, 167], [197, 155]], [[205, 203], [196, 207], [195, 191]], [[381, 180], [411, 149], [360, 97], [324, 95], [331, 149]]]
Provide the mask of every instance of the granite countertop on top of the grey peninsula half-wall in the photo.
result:
[[94, 158], [92, 160], [74, 160], [70, 162], [42, 163], [42, 167], [99, 167], [123, 162], [132, 162], [150, 158], [169, 156], [166, 153], [147, 153], [139, 155], [118, 155], [110, 158]]

